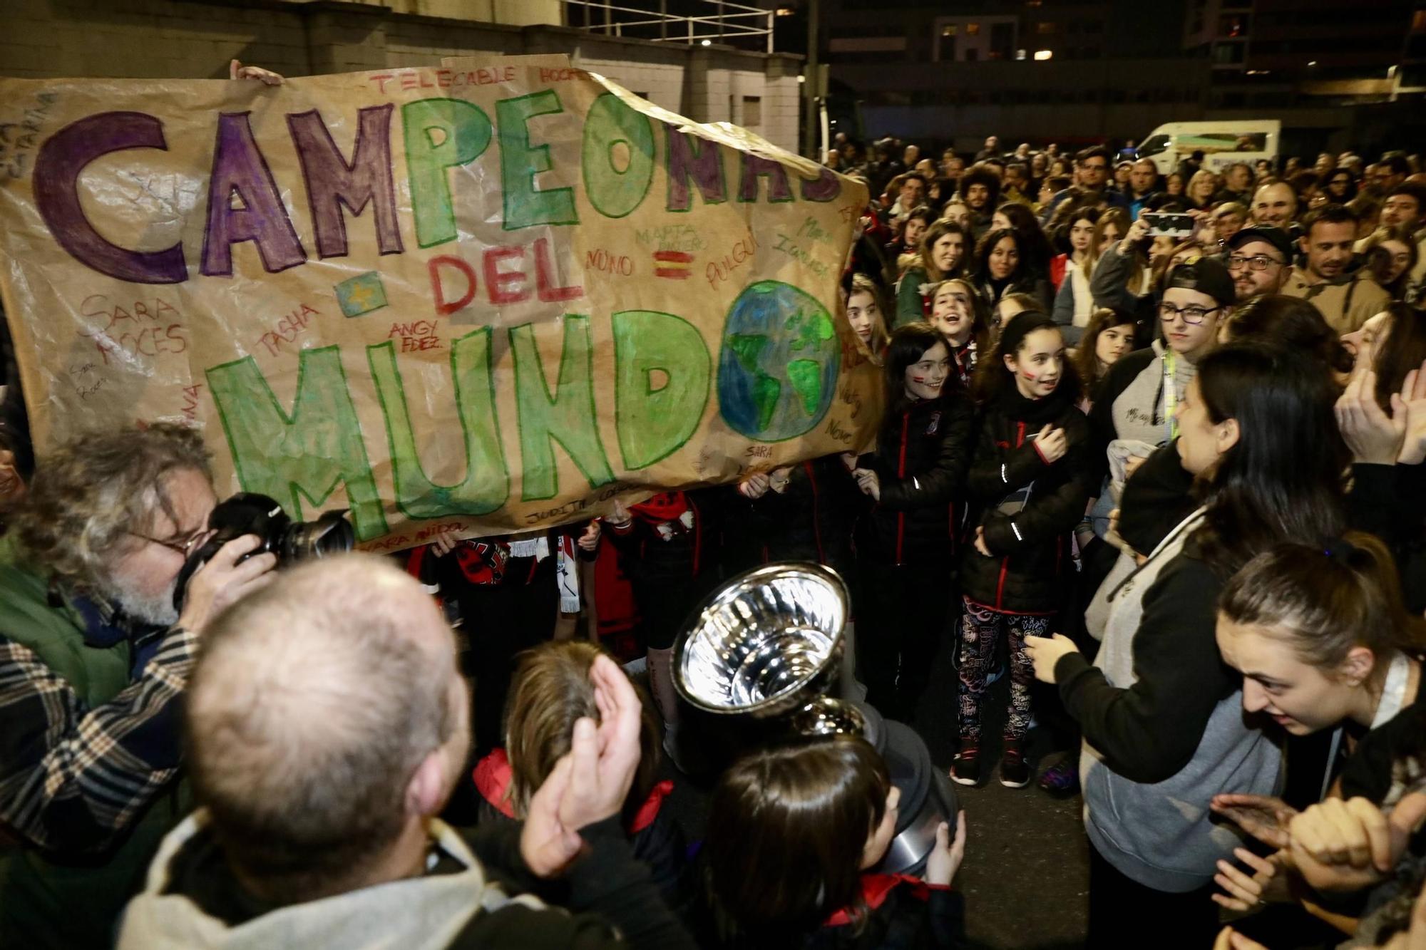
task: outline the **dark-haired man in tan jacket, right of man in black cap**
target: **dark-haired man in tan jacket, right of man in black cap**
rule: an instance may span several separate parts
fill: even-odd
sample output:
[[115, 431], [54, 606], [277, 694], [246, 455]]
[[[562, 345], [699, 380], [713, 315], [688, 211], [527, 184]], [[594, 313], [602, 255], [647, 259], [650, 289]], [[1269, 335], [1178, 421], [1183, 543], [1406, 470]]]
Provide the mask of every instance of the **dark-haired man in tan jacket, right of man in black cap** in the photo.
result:
[[1356, 238], [1356, 215], [1340, 204], [1313, 208], [1302, 220], [1306, 267], [1293, 267], [1282, 292], [1302, 297], [1322, 311], [1339, 334], [1349, 334], [1386, 310], [1392, 295], [1362, 268], [1348, 272]]

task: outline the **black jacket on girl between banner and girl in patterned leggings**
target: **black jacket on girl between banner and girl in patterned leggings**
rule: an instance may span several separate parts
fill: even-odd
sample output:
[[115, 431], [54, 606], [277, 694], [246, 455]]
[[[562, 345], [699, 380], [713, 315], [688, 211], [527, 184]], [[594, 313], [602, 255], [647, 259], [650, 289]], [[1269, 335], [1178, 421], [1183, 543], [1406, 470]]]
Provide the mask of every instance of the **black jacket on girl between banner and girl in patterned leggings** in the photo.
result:
[[857, 525], [857, 556], [878, 563], [950, 563], [970, 465], [974, 409], [961, 392], [893, 411], [877, 451], [858, 465], [881, 482], [881, 501]]

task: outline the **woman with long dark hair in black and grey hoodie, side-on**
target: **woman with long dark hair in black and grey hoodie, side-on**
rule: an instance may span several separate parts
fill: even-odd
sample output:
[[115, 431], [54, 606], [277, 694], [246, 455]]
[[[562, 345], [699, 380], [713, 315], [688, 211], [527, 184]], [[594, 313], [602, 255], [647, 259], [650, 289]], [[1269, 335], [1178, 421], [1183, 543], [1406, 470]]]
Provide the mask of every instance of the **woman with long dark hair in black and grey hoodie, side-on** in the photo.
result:
[[1271, 795], [1281, 766], [1273, 742], [1243, 722], [1214, 605], [1272, 546], [1340, 536], [1348, 451], [1335, 398], [1326, 368], [1301, 354], [1233, 344], [1204, 357], [1178, 419], [1202, 506], [1109, 595], [1094, 665], [1062, 635], [1030, 642], [1035, 676], [1058, 685], [1085, 737], [1089, 946], [1132, 946], [1145, 919], [1174, 921], [1159, 946], [1214, 939], [1214, 874], [1239, 837], [1209, 820], [1208, 803]]

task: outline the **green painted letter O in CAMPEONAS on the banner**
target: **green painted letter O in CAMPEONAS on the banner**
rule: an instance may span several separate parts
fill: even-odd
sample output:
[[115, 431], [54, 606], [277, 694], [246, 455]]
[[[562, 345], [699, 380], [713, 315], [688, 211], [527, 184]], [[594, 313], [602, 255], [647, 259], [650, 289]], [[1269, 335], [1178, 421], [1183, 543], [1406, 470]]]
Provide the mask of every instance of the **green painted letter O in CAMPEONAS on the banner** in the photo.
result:
[[[623, 168], [615, 163], [615, 145], [623, 143]], [[606, 218], [622, 218], [643, 201], [653, 184], [653, 124], [613, 93], [605, 93], [585, 116], [580, 157], [589, 204]]]

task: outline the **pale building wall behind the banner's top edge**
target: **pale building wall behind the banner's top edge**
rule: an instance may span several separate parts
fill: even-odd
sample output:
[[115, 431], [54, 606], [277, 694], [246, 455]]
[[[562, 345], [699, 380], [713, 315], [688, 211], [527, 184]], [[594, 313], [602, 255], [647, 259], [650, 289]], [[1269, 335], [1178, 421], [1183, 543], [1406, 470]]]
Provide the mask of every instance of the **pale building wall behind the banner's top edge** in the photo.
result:
[[217, 78], [231, 58], [314, 76], [563, 53], [689, 118], [756, 118], [796, 151], [800, 57], [585, 33], [552, 26], [559, 13], [558, 0], [0, 0], [0, 76]]

